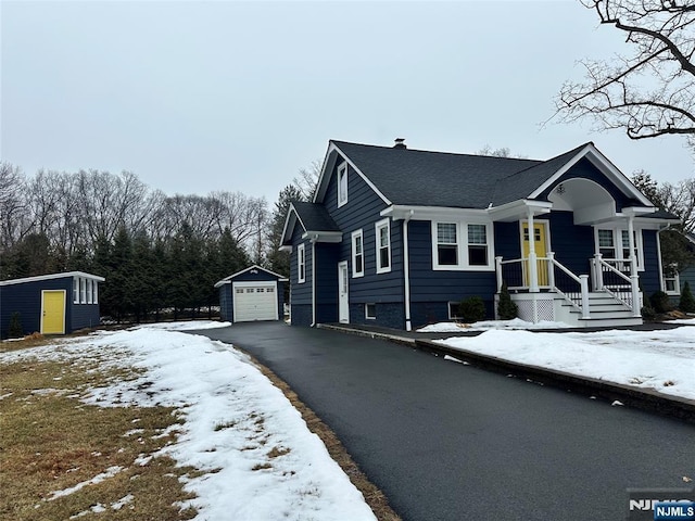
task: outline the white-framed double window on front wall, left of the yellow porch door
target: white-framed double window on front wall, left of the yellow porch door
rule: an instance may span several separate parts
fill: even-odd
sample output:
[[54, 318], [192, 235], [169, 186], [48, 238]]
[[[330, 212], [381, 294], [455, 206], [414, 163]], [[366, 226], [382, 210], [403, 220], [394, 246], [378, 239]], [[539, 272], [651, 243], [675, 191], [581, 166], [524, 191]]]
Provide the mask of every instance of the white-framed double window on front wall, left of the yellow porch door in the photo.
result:
[[432, 221], [432, 268], [490, 270], [493, 265], [492, 225]]

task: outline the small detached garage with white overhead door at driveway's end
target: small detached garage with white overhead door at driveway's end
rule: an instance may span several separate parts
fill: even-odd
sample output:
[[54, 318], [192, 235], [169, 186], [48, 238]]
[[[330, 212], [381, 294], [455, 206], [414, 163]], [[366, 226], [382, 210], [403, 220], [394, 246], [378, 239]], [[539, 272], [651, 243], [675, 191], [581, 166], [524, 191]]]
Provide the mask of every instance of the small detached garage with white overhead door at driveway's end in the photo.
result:
[[230, 322], [280, 320], [285, 315], [287, 278], [261, 266], [251, 266], [222, 279], [219, 314]]

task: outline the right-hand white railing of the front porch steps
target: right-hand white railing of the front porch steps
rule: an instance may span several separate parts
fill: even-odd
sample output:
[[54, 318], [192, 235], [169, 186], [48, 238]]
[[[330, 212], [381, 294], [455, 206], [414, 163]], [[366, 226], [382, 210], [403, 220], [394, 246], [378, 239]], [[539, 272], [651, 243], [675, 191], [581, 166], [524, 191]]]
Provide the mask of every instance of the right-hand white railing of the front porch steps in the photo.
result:
[[632, 260], [603, 258], [601, 253], [591, 259], [592, 279], [595, 291], [605, 291], [622, 302], [632, 316], [639, 317], [640, 277], [632, 266]]

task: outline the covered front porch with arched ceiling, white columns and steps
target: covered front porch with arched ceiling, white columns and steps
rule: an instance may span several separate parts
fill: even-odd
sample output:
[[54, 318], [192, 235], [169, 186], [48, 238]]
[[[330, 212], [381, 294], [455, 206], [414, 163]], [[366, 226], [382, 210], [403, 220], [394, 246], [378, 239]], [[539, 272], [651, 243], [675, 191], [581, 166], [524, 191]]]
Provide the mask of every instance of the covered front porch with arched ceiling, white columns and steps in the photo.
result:
[[[520, 230], [518, 255], [495, 257], [496, 298], [506, 283], [519, 318], [532, 322], [642, 323], [639, 271], [644, 260], [641, 264], [641, 229], [635, 224], [653, 208], [618, 211], [605, 188], [582, 178], [558, 183], [546, 196], [547, 201], [519, 201], [492, 213], [497, 221], [518, 223]], [[559, 237], [564, 250], [556, 252], [549, 223], [560, 213], [565, 221], [553, 233], [570, 239]], [[583, 230], [581, 245], [571, 243], [577, 229]]]

